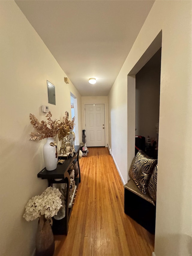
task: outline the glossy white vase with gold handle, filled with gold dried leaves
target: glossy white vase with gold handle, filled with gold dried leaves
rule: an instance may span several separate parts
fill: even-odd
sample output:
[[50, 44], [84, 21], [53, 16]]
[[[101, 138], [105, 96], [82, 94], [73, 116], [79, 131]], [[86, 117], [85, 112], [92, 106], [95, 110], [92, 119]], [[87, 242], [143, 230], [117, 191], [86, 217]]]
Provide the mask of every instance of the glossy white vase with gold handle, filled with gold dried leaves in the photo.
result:
[[[45, 161], [45, 167], [48, 171], [55, 170], [58, 161], [58, 146], [54, 141], [55, 135], [58, 133], [59, 120], [52, 120], [52, 114], [49, 111], [46, 115], [48, 122], [41, 121], [30, 113], [30, 120], [33, 127], [37, 130], [35, 133], [30, 133], [29, 140], [43, 140], [47, 139], [43, 147], [43, 155]], [[49, 125], [49, 127], [47, 126]]]

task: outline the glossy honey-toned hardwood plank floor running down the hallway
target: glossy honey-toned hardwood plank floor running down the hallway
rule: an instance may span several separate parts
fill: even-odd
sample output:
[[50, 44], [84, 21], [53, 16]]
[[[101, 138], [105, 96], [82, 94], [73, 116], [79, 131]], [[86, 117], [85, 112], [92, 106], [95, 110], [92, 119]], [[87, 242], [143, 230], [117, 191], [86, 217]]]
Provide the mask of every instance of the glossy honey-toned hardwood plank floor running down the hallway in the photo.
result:
[[151, 256], [155, 236], [124, 213], [124, 187], [108, 149], [89, 148], [80, 169], [68, 235], [54, 236], [54, 256]]

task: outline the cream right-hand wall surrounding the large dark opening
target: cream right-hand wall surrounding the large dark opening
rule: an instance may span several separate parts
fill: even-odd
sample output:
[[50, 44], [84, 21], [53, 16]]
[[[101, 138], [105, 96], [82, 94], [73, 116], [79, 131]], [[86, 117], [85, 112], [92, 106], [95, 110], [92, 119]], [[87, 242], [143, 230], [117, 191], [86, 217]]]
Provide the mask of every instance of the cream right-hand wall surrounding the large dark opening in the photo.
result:
[[[161, 30], [155, 254], [156, 256], [183, 256], [191, 255], [192, 236], [191, 1], [156, 1], [154, 3], [110, 91], [109, 118], [113, 122], [109, 126], [109, 134], [111, 134], [112, 152], [119, 170], [122, 176], [128, 179], [128, 169], [134, 156], [135, 90], [134, 76], [130, 76], [127, 82], [127, 75], [130, 71], [132, 71], [130, 74], [134, 75], [133, 68], [140, 59], [144, 65], [147, 57], [151, 57], [145, 55], [146, 61], [144, 61], [142, 56]], [[128, 100], [125, 97], [127, 92]], [[114, 152], [114, 148], [127, 138], [128, 145], [125, 143], [124, 152], [121, 154]], [[122, 166], [122, 159], [126, 158], [128, 163]]]

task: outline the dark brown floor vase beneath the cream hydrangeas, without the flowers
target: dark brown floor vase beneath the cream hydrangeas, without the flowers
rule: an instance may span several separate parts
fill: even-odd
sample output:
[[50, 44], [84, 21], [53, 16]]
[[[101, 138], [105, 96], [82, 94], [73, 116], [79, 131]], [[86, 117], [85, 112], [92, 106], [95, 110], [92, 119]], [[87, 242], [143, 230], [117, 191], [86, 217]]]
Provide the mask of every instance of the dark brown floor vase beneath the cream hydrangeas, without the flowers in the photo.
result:
[[55, 251], [55, 242], [50, 221], [42, 215], [38, 222], [36, 236], [36, 256], [52, 256]]

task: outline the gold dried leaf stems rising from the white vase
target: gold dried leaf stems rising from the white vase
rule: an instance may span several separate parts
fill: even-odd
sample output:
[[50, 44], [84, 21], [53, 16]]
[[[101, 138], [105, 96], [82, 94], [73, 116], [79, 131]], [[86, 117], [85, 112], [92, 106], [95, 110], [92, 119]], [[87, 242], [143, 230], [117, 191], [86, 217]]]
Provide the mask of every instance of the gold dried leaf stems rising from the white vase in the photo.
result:
[[[58, 134], [59, 131], [59, 120], [55, 119], [52, 120], [52, 114], [49, 111], [48, 114], [46, 115], [48, 122], [45, 121], [41, 121], [39, 122], [38, 119], [30, 114], [30, 120], [31, 120], [31, 124], [33, 125], [33, 127], [35, 127], [36, 131], [35, 133], [32, 132], [30, 133], [30, 137], [29, 140], [43, 140], [45, 138], [51, 138], [51, 137], [55, 137], [56, 134]], [[49, 125], [50, 127], [47, 127], [47, 125]]]

